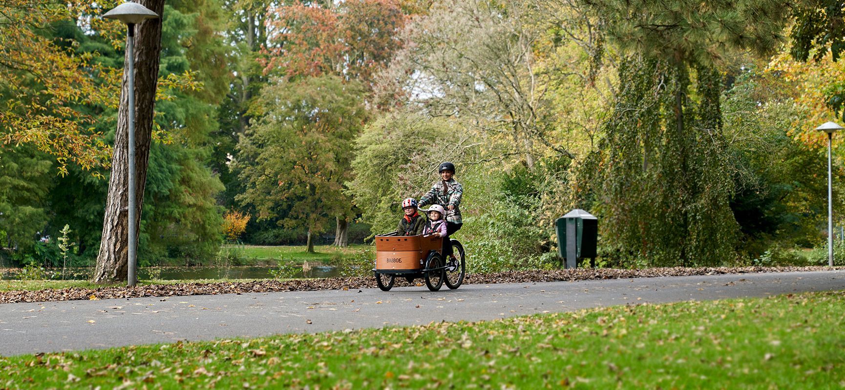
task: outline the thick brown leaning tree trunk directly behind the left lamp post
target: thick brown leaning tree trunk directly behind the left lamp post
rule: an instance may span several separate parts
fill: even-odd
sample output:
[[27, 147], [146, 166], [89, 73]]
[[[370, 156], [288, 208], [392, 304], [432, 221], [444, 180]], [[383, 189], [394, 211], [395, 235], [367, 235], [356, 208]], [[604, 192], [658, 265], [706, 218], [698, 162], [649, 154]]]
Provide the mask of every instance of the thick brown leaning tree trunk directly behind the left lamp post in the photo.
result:
[[[164, 0], [139, 0], [155, 14], [164, 11]], [[159, 55], [161, 53], [161, 19], [149, 19], [135, 25], [135, 171], [136, 210], [138, 218], [136, 232], [140, 226], [141, 208], [144, 204], [144, 184], [150, 159], [155, 88], [158, 81]], [[112, 155], [112, 176], [109, 178], [106, 195], [106, 216], [103, 218], [103, 233], [100, 253], [94, 271], [95, 283], [126, 280], [128, 270], [128, 90], [127, 65], [123, 68], [123, 87], [120, 94], [120, 108], [117, 112], [117, 134]], [[138, 237], [132, 237], [138, 240]]]

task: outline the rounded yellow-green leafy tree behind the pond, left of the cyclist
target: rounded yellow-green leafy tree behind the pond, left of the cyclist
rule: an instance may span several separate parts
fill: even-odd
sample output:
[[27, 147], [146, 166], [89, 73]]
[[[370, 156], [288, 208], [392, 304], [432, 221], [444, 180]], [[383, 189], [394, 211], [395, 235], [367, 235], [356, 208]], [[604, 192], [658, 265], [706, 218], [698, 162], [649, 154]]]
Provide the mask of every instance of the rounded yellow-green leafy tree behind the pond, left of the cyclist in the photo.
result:
[[259, 220], [307, 227], [308, 252], [314, 232], [349, 209], [343, 183], [367, 118], [363, 93], [361, 84], [332, 75], [280, 80], [264, 88], [253, 109], [259, 122], [238, 143], [234, 165], [247, 187], [238, 198], [254, 205]]

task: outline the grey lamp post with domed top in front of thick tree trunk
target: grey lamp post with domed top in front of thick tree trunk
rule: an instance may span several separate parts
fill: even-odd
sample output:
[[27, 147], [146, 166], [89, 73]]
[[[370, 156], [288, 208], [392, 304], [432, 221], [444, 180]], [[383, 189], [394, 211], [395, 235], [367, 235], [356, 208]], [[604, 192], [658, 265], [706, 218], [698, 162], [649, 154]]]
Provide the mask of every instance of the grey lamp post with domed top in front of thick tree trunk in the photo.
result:
[[136, 249], [138, 247], [138, 241], [136, 240], [135, 234], [135, 219], [136, 219], [136, 212], [135, 212], [135, 53], [134, 53], [134, 41], [135, 41], [135, 24], [139, 24], [146, 19], [155, 19], [158, 18], [158, 14], [155, 12], [150, 11], [150, 9], [144, 7], [139, 3], [127, 2], [118, 5], [115, 8], [112, 8], [111, 11], [103, 14], [103, 18], [106, 19], [117, 19], [121, 22], [125, 23], [127, 26], [127, 39], [126, 39], [126, 53], [128, 54], [128, 77], [127, 84], [128, 84], [128, 100], [129, 100], [129, 130], [128, 130], [128, 162], [129, 162], [129, 221], [128, 221], [128, 238], [129, 238], [129, 247], [127, 253], [127, 263], [128, 263], [128, 271], [126, 276], [126, 284], [129, 286], [134, 286], [138, 283], [138, 278], [136, 276], [136, 270], [138, 268], [138, 262], [136, 257]]

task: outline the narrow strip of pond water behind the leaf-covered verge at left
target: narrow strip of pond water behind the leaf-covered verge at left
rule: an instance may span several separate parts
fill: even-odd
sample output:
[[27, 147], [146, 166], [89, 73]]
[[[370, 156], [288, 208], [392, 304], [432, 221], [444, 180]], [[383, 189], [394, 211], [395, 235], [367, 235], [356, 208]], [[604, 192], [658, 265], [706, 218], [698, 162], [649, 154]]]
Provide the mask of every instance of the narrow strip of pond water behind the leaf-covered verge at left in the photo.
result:
[[[272, 279], [270, 271], [277, 271], [276, 266], [237, 266], [237, 267], [152, 267], [140, 268], [139, 280], [149, 280], [152, 275], [160, 280], [196, 280], [196, 279]], [[0, 268], [0, 279], [21, 279], [21, 268]], [[65, 278], [68, 280], [90, 279], [94, 268], [68, 268]], [[46, 269], [42, 279], [62, 279], [62, 269]], [[341, 275], [341, 269], [332, 265], [313, 265], [307, 269], [292, 266], [285, 269], [283, 278], [334, 278]]]

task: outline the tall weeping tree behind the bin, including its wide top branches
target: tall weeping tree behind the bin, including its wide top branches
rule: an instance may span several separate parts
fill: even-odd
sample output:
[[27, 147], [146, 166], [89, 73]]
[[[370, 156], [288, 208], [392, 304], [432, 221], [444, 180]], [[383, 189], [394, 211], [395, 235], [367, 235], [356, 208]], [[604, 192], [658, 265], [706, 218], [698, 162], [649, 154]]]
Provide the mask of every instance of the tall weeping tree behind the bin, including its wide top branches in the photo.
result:
[[722, 263], [733, 256], [737, 227], [716, 66], [728, 50], [770, 51], [786, 8], [779, 1], [584, 3], [606, 20], [624, 55], [606, 136], [581, 169], [596, 183], [594, 207], [609, 241], [651, 264]]

